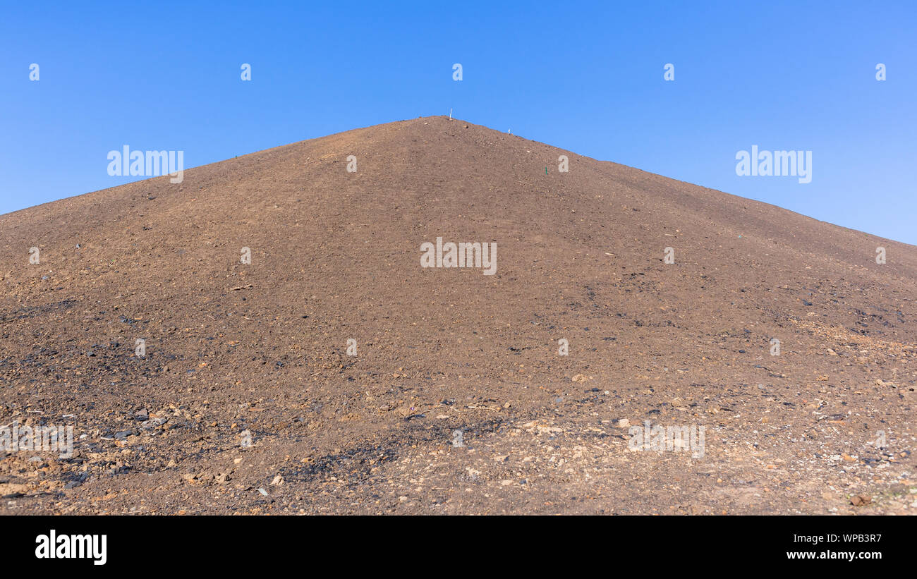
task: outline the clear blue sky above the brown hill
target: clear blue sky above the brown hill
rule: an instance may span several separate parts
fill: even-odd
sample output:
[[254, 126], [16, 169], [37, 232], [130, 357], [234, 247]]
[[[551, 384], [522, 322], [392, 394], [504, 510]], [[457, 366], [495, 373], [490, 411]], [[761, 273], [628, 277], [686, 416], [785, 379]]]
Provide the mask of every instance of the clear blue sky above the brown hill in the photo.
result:
[[[86, 4], [2, 5], [0, 213], [131, 180], [125, 144], [189, 168], [453, 108], [917, 244], [912, 1]], [[811, 150], [812, 182], [736, 176], [752, 145]]]

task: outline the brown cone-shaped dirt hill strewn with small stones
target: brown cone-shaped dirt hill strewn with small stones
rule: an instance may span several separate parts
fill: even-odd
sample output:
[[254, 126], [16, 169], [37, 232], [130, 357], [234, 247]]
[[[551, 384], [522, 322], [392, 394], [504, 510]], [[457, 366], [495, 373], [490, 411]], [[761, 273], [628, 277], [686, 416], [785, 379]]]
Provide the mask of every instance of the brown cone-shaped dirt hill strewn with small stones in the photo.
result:
[[0, 277], [0, 424], [77, 437], [6, 512], [917, 512], [917, 247], [463, 121], [0, 216]]

